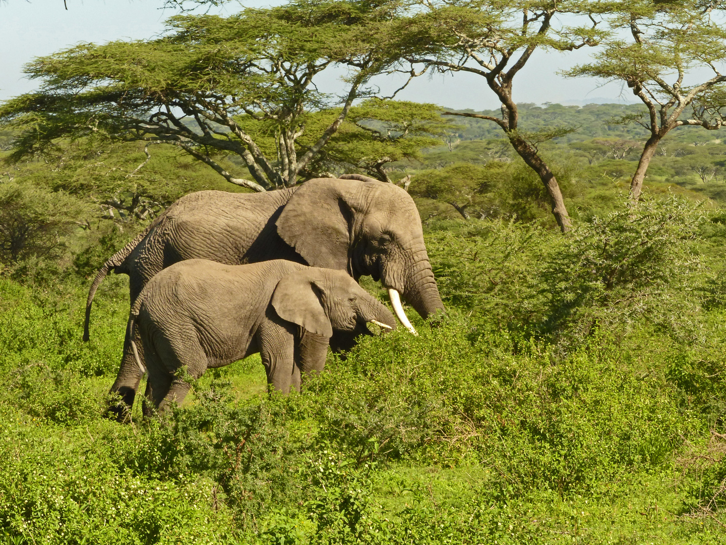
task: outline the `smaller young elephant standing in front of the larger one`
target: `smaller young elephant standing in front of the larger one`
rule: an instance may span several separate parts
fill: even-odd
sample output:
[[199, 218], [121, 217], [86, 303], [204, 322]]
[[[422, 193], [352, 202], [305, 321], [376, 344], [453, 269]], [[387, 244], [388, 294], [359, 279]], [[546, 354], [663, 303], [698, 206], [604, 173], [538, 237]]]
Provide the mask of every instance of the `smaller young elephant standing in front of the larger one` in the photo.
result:
[[146, 398], [163, 411], [189, 391], [179, 371], [198, 379], [257, 352], [270, 389], [300, 389], [301, 378], [324, 368], [333, 330], [370, 320], [396, 327], [393, 314], [343, 271], [282, 259], [237, 266], [191, 259], [147, 283], [129, 327], [137, 363], [149, 372]]

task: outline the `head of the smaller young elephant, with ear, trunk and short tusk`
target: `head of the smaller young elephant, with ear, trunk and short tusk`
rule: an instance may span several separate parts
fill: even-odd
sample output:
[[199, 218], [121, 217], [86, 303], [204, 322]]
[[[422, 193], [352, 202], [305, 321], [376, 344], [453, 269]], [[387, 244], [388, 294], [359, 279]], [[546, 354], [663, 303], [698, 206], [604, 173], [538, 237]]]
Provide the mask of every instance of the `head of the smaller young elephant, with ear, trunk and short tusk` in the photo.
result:
[[368, 322], [396, 328], [385, 305], [340, 270], [316, 268], [283, 277], [272, 294], [272, 306], [283, 320], [330, 338], [336, 331], [355, 331]]

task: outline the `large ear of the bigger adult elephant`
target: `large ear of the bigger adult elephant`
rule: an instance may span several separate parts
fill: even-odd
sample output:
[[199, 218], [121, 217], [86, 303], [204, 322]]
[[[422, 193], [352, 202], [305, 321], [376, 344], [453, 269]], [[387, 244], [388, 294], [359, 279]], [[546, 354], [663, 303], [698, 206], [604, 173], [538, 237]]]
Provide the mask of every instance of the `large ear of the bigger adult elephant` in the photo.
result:
[[280, 238], [312, 267], [348, 270], [348, 252], [354, 238], [351, 195], [361, 185], [335, 178], [305, 182], [277, 219]]

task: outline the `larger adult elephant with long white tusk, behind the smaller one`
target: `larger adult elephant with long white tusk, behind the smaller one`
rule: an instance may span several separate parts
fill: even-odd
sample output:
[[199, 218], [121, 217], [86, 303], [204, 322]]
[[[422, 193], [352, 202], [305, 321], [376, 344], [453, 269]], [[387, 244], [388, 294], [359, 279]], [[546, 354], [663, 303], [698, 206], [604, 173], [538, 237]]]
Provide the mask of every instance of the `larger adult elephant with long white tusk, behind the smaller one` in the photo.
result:
[[[186, 259], [227, 265], [288, 259], [344, 270], [356, 280], [370, 275], [388, 289], [396, 316], [411, 331], [399, 294], [423, 318], [444, 310], [412, 198], [396, 185], [351, 175], [266, 193], [200, 191], [180, 198], [101, 267], [89, 290], [83, 339], [89, 339], [94, 294], [110, 271], [129, 275], [133, 305], [156, 273]], [[330, 345], [349, 347], [351, 336], [334, 337]], [[133, 405], [141, 376], [127, 328], [111, 387], [123, 401], [119, 419]]]

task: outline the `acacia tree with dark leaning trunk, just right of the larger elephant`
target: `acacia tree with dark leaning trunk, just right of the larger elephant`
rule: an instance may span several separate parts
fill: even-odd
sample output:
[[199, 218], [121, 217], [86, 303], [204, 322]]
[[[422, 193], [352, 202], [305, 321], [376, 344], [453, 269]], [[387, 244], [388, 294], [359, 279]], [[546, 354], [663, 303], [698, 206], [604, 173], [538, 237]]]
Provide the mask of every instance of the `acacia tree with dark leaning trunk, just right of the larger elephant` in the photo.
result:
[[[436, 70], [468, 72], [484, 82], [502, 103], [502, 116], [446, 112], [493, 121], [507, 135], [514, 150], [537, 172], [549, 195], [560, 229], [570, 229], [562, 192], [552, 170], [539, 156], [537, 145], [562, 136], [566, 129], [537, 134], [519, 130], [519, 112], [513, 100], [514, 78], [537, 49], [571, 51], [597, 44], [603, 36], [590, 15], [587, 25], [556, 25], [561, 14], [592, 12], [587, 1], [530, 0], [421, 0], [413, 15], [401, 20], [395, 47], [409, 64], [411, 78]], [[423, 68], [420, 68], [422, 67]], [[404, 70], [403, 68], [400, 68]], [[410, 78], [409, 78], [410, 81]]]

